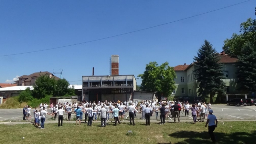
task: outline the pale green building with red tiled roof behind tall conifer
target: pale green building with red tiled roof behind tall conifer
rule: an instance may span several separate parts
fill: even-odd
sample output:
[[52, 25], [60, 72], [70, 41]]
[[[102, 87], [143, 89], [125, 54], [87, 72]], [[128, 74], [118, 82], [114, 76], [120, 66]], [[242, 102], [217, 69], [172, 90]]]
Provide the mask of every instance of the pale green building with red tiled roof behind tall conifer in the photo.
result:
[[[225, 79], [222, 80], [226, 83], [226, 93], [239, 93], [236, 89], [237, 67], [235, 63], [237, 62], [237, 58], [226, 55], [225, 52], [221, 52], [219, 56], [220, 63], [224, 64], [223, 75], [225, 76]], [[176, 89], [172, 93], [173, 96], [197, 96], [197, 80], [193, 73], [195, 69], [196, 66], [194, 63], [190, 65], [178, 65], [174, 67], [177, 78], [175, 79]]]

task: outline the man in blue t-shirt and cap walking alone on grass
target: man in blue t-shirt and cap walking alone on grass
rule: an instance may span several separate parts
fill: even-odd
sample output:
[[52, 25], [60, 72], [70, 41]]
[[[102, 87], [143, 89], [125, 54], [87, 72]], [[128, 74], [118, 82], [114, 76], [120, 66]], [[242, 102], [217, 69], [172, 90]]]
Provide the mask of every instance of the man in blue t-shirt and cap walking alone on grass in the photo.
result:
[[[208, 133], [209, 133], [209, 135], [211, 137], [212, 142], [215, 143], [216, 139], [215, 139], [215, 136], [213, 134], [213, 131], [215, 130], [215, 128], [217, 128], [218, 120], [217, 120], [216, 116], [213, 115], [212, 113], [213, 113], [213, 110], [209, 110], [209, 115], [207, 117], [207, 122], [205, 124], [205, 127], [209, 123], [209, 125], [208, 125]], [[215, 121], [216, 121], [216, 124], [215, 124]]]

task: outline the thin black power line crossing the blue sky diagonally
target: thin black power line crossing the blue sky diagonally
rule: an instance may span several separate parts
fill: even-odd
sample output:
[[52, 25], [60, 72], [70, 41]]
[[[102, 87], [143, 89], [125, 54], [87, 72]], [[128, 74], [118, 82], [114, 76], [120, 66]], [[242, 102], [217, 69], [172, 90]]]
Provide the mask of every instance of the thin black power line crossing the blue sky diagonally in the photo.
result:
[[21, 55], [21, 54], [28, 54], [28, 53], [35, 53], [35, 52], [41, 52], [41, 51], [48, 51], [48, 50], [51, 50], [51, 49], [58, 49], [58, 48], [64, 48], [64, 47], [68, 47], [68, 46], [74, 46], [74, 45], [79, 45], [79, 44], [85, 44], [85, 43], [100, 41], [100, 40], [104, 40], [104, 39], [107, 39], [107, 38], [112, 38], [112, 37], [117, 37], [117, 36], [121, 36], [121, 35], [130, 34], [130, 33], [135, 33], [135, 32], [139, 32], [139, 31], [143, 31], [143, 30], [147, 30], [147, 29], [152, 29], [152, 28], [154, 28], [154, 27], [158, 27], [158, 26], [162, 26], [162, 25], [166, 25], [166, 24], [170, 24], [170, 23], [174, 23], [174, 22], [178, 22], [178, 21], [182, 21], [182, 20], [186, 20], [186, 19], [190, 19], [190, 18], [194, 18], [194, 17], [196, 17], [196, 16], [200, 16], [200, 15], [203, 15], [203, 14], [207, 14], [207, 13], [211, 13], [211, 12], [214, 12], [214, 11], [222, 10], [222, 9], [225, 9], [225, 8], [228, 8], [228, 7], [233, 7], [233, 6], [235, 6], [235, 5], [242, 4], [242, 3], [245, 3], [245, 2], [248, 2], [248, 1], [251, 1], [251, 0], [239, 2], [239, 3], [233, 4], [233, 5], [229, 5], [229, 6], [220, 8], [220, 9], [216, 9], [216, 10], [204, 12], [204, 13], [201, 13], [201, 14], [189, 16], [189, 17], [187, 17], [187, 18], [179, 19], [179, 20], [176, 20], [176, 21], [172, 21], [172, 22], [168, 22], [168, 23], [164, 23], [164, 24], [159, 24], [159, 25], [147, 27], [147, 28], [145, 28], [145, 29], [140, 29], [140, 30], [131, 31], [131, 32], [127, 32], [127, 33], [122, 33], [122, 34], [118, 34], [118, 35], [113, 35], [113, 36], [108, 36], [108, 37], [104, 37], [104, 38], [99, 38], [99, 39], [92, 40], [92, 41], [87, 41], [87, 42], [82, 42], [82, 43], [76, 43], [76, 44], [71, 44], [71, 45], [65, 45], [65, 46], [60, 46], [60, 47], [54, 47], [54, 48], [48, 48], [48, 49], [41, 49], [41, 50], [38, 50], [38, 51], [31, 51], [31, 52], [24, 52], [24, 53], [17, 53], [17, 54], [9, 54], [9, 55], [1, 55], [0, 57], [3, 57], [3, 56], [12, 56], [12, 55]]

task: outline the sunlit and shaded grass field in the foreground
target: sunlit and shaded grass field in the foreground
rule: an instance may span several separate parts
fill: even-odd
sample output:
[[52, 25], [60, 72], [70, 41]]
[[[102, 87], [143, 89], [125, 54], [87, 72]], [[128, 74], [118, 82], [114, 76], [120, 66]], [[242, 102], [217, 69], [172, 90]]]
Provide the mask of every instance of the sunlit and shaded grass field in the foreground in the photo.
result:
[[[36, 129], [32, 124], [0, 124], [0, 144], [206, 144], [211, 143], [204, 123], [122, 123], [117, 126], [100, 123], [87, 126], [82, 123], [45, 123], [45, 129]], [[215, 136], [219, 144], [253, 144], [256, 135], [255, 122], [219, 122]], [[126, 135], [127, 131], [133, 133]], [[25, 137], [25, 139], [22, 139]], [[149, 139], [149, 140], [148, 140]]]

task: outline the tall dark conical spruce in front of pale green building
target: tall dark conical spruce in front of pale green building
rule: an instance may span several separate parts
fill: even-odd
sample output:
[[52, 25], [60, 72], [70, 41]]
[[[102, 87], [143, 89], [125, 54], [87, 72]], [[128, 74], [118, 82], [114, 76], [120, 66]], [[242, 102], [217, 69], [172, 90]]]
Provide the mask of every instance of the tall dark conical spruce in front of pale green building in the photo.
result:
[[219, 63], [220, 57], [209, 41], [205, 40], [194, 58], [196, 69], [194, 73], [198, 81], [198, 95], [208, 97], [213, 102], [217, 93], [224, 93], [225, 84], [223, 64]]

